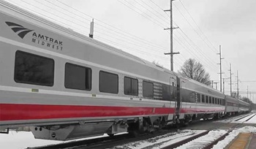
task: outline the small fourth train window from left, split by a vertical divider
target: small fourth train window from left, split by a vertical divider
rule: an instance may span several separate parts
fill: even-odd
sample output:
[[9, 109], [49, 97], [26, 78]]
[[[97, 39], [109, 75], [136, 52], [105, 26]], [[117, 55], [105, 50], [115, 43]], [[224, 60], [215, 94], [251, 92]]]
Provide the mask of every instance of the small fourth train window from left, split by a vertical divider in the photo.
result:
[[138, 80], [124, 77], [124, 94], [138, 96]]

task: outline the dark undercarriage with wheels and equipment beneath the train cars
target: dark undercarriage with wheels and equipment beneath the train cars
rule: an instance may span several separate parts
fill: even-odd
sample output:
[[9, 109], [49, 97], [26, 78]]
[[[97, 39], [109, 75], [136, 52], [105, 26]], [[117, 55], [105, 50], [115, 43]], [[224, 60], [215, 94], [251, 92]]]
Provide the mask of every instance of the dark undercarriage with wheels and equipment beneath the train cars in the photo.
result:
[[116, 121], [80, 121], [76, 124], [62, 124], [52, 126], [30, 126], [29, 129], [36, 139], [42, 140], [75, 140], [83, 137], [94, 137], [108, 134], [110, 137], [118, 133], [129, 133], [137, 136], [142, 133], [152, 133], [162, 128], [173, 126], [187, 126], [192, 121], [200, 118], [208, 120], [218, 119], [222, 113], [191, 114], [173, 116], [172, 121], [167, 121], [167, 116], [152, 116], [130, 119], [118, 119]]

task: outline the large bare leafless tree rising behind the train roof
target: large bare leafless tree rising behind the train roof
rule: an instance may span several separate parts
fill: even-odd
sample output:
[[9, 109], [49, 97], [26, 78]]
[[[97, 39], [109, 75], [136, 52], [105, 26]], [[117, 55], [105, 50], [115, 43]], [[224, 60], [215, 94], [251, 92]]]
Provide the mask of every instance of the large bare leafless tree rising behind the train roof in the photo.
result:
[[206, 72], [206, 69], [203, 68], [203, 65], [195, 59], [189, 58], [187, 61], [185, 61], [178, 73], [184, 77], [189, 77], [200, 83], [204, 83], [206, 85], [211, 84], [209, 73]]

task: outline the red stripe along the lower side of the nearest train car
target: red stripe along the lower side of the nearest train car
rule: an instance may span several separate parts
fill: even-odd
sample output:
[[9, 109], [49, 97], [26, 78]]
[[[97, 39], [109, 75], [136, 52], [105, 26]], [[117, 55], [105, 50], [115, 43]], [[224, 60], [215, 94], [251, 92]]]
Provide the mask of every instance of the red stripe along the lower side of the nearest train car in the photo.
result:
[[106, 107], [45, 104], [0, 104], [0, 121], [173, 114], [167, 107]]

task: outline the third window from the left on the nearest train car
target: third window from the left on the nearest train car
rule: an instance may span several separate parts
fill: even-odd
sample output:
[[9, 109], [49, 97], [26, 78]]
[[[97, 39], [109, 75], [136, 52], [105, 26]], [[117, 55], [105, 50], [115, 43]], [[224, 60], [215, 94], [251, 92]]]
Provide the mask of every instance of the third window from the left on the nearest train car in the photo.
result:
[[100, 71], [99, 91], [104, 93], [118, 93], [118, 75]]

